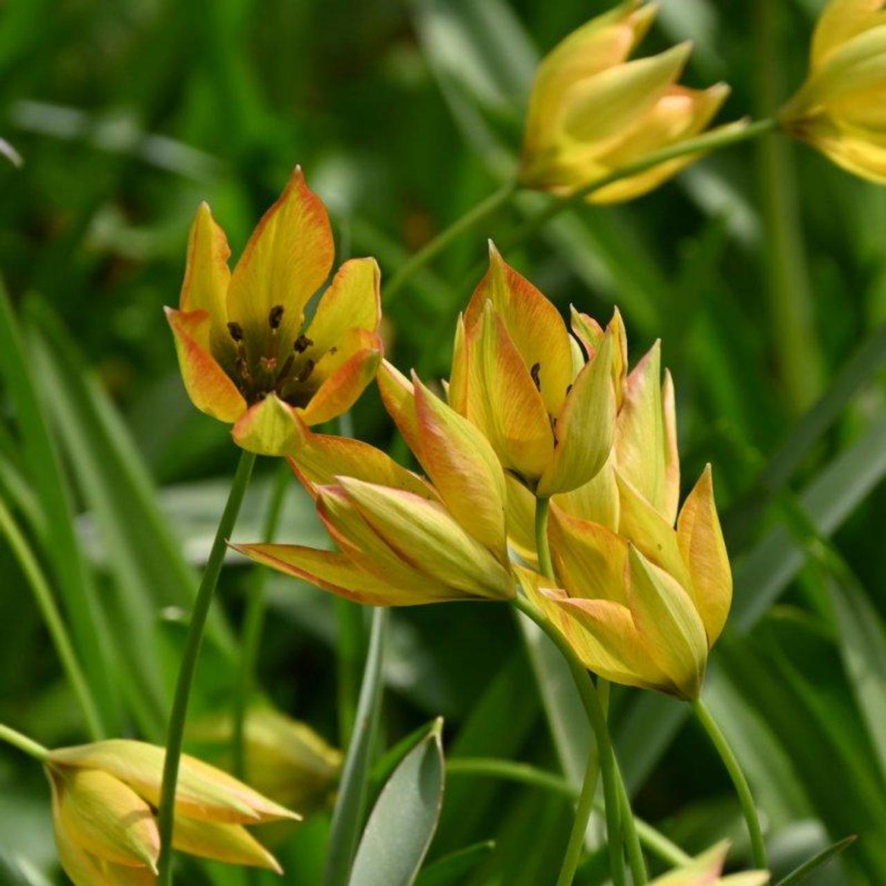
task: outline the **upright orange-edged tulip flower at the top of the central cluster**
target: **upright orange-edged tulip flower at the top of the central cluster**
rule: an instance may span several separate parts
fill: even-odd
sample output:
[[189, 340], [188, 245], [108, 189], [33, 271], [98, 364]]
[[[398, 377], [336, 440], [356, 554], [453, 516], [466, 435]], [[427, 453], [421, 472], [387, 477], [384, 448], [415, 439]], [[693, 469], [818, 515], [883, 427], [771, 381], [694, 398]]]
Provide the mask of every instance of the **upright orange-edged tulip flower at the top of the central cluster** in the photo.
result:
[[490, 244], [456, 332], [449, 402], [532, 493], [568, 492], [595, 477], [612, 447], [614, 346], [604, 336], [585, 361], [556, 307]]

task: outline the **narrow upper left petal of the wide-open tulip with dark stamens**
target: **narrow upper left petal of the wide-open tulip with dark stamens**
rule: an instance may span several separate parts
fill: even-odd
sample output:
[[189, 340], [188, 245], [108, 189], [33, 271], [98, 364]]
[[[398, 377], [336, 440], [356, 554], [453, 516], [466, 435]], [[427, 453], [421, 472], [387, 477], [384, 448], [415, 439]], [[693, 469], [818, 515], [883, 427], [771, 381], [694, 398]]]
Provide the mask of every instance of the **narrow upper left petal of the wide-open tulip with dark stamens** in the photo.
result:
[[219, 360], [228, 355], [233, 358], [233, 341], [225, 325], [229, 258], [228, 238], [216, 224], [209, 205], [201, 203], [190, 226], [179, 308], [184, 312], [206, 311], [210, 318], [209, 350]]

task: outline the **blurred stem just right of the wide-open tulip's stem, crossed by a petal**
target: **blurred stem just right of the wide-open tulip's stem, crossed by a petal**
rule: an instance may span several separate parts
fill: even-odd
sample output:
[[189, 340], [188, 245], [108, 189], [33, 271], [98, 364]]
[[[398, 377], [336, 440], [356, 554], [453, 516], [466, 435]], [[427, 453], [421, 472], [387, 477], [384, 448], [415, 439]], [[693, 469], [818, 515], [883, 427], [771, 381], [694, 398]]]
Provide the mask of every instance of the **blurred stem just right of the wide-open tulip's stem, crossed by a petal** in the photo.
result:
[[[261, 538], [273, 541], [276, 536], [286, 490], [292, 479], [292, 471], [285, 461], [280, 462], [274, 486], [271, 490], [265, 525], [262, 527]], [[234, 732], [232, 750], [234, 758], [234, 774], [239, 779], [246, 778], [245, 759], [245, 724], [246, 711], [255, 686], [255, 667], [259, 658], [261, 634], [265, 626], [265, 583], [268, 580], [268, 569], [256, 566], [253, 569], [249, 587], [249, 600], [243, 619], [243, 633], [240, 637], [240, 671], [237, 674], [237, 688], [234, 693]]]

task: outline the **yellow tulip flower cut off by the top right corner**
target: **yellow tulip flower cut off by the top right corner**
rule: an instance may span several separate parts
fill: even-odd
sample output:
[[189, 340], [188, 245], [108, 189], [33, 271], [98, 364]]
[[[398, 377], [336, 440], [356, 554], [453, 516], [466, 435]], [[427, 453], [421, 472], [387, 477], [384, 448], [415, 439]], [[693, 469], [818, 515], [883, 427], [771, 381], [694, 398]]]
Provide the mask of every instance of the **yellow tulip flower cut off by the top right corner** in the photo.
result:
[[830, 0], [815, 28], [809, 76], [779, 116], [835, 163], [886, 183], [884, 91], [883, 0]]

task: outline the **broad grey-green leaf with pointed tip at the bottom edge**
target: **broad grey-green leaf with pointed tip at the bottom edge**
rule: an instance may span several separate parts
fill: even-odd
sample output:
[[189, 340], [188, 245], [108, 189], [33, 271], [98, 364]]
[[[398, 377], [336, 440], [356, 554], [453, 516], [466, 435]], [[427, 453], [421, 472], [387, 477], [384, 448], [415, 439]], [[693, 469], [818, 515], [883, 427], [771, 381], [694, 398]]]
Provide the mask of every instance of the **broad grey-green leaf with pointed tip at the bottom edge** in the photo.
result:
[[446, 781], [438, 719], [385, 784], [369, 815], [348, 886], [411, 886], [431, 846]]

